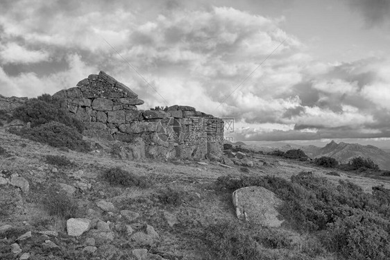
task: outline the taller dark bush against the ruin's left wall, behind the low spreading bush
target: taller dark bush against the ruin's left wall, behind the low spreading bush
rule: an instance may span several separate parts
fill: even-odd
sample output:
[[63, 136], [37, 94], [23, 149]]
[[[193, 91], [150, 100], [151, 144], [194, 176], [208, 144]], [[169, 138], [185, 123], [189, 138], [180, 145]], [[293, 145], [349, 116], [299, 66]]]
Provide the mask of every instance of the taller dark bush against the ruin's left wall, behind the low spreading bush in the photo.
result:
[[37, 98], [28, 99], [22, 106], [13, 112], [14, 119], [20, 119], [26, 123], [31, 122], [31, 127], [56, 121], [83, 132], [83, 123], [69, 115], [65, 103], [59, 98], [53, 98], [49, 94], [43, 94]]

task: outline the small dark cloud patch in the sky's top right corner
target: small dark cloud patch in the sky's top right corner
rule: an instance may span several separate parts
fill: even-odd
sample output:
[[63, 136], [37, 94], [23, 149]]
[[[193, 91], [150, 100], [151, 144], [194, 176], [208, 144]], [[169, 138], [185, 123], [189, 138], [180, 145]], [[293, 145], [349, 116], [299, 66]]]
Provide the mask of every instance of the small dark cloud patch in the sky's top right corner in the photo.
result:
[[378, 26], [390, 21], [389, 0], [347, 0], [349, 6], [363, 15], [367, 26]]

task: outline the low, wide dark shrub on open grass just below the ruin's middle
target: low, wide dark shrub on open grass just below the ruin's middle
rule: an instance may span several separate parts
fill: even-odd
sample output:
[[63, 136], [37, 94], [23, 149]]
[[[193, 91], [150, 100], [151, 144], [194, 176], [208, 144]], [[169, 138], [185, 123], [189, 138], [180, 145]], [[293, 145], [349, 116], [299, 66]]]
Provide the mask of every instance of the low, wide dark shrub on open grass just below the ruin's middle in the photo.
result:
[[141, 188], [149, 187], [149, 184], [145, 180], [142, 180], [133, 173], [124, 171], [119, 167], [108, 169], [103, 173], [103, 177], [112, 185], [120, 185], [124, 187], [137, 186]]

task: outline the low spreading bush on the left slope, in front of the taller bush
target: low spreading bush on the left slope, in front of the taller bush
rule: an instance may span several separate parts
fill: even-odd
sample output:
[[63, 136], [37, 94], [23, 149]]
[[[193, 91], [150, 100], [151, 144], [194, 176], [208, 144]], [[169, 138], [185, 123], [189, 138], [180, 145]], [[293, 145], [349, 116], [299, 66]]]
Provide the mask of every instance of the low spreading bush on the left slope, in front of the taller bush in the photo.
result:
[[83, 140], [83, 136], [74, 128], [70, 128], [63, 123], [52, 121], [35, 128], [22, 128], [21, 130], [10, 129], [10, 132], [26, 139], [49, 144], [53, 147], [67, 147], [80, 152], [90, 150], [87, 142]]

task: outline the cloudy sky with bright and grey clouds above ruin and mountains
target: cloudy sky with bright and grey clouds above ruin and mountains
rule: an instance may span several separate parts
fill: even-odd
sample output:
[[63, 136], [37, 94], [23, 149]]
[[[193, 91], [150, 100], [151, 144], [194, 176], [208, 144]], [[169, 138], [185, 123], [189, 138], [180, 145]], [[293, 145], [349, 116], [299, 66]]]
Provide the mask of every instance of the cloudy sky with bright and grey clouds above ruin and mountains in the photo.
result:
[[389, 14], [390, 0], [1, 0], [0, 94], [103, 70], [141, 109], [234, 118], [237, 140], [386, 138]]

